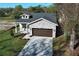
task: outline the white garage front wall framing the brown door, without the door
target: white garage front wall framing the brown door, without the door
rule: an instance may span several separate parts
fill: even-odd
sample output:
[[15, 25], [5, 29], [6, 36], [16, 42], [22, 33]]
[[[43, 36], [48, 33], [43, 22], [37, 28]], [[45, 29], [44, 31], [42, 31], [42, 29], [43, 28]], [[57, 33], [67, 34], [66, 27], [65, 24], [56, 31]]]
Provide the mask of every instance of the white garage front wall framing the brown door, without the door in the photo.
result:
[[52, 37], [56, 36], [56, 25], [48, 20], [41, 20], [29, 26], [29, 32], [32, 34], [32, 28], [52, 29]]

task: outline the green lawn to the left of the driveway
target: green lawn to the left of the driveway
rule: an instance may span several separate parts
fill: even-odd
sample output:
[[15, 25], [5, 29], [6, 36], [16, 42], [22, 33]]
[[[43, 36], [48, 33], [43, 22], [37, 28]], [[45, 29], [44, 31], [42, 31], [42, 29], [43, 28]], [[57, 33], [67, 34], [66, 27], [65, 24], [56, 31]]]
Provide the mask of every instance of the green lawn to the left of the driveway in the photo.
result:
[[13, 37], [8, 31], [0, 31], [0, 56], [15, 56], [21, 51], [27, 40], [22, 36]]

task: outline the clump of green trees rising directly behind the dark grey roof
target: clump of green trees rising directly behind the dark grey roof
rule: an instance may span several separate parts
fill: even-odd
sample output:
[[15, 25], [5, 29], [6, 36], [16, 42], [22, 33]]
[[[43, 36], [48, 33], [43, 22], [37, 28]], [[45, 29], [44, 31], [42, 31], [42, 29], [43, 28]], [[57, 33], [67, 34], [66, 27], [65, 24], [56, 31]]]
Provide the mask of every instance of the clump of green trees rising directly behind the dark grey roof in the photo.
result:
[[31, 6], [27, 10], [29, 12], [35, 12], [35, 13], [38, 13], [38, 12], [56, 13], [57, 8], [55, 5], [49, 5], [47, 7], [38, 5], [38, 6], [34, 6], [34, 7]]

